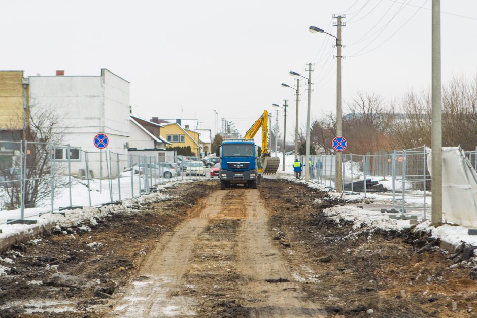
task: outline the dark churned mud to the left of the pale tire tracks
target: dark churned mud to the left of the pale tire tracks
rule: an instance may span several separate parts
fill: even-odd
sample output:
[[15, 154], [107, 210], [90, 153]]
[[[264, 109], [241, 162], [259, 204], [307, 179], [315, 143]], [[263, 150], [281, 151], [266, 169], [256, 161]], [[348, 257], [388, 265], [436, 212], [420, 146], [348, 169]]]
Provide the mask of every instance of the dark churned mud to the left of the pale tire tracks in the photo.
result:
[[[161, 192], [172, 199], [138, 207], [138, 213], [108, 216], [97, 220], [96, 226], [87, 221], [91, 232], [79, 226], [64, 228], [41, 241], [3, 251], [0, 257], [16, 258], [13, 264], [2, 263], [15, 269], [0, 277], [0, 316], [27, 316], [33, 311], [37, 313], [28, 316], [103, 316], [101, 307], [108, 306], [111, 295], [140, 268], [158, 239], [217, 188], [211, 181], [166, 188]], [[40, 314], [38, 304], [44, 310], [77, 312]]]

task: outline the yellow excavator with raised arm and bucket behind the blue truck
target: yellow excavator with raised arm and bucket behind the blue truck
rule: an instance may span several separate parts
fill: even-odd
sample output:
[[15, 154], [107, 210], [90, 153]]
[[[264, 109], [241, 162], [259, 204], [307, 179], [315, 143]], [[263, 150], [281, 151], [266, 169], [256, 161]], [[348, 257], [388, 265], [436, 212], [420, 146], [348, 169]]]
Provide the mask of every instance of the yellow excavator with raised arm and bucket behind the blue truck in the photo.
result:
[[270, 157], [268, 151], [268, 111], [264, 110], [252, 127], [245, 133], [245, 139], [253, 139], [259, 129], [262, 129], [262, 156], [257, 159], [258, 174], [275, 174], [277, 173], [280, 159], [278, 157]]

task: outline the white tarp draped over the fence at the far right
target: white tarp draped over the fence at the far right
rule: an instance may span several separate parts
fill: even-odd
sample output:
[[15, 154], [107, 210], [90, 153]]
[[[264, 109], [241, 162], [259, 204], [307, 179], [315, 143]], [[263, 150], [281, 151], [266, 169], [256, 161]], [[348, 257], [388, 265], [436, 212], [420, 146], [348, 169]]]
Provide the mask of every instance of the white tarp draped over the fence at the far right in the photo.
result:
[[[432, 178], [430, 149], [427, 168]], [[477, 173], [460, 147], [442, 148], [442, 219], [477, 228]]]

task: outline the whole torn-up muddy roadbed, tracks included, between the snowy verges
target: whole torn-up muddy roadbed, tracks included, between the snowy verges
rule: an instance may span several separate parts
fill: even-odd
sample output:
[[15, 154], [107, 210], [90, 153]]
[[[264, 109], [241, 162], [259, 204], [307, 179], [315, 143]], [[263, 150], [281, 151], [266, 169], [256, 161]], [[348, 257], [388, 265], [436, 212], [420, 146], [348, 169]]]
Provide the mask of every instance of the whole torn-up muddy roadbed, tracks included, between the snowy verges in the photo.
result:
[[[75, 239], [4, 252], [21, 257], [0, 278], [0, 308], [9, 307], [0, 316], [477, 316], [475, 271], [435, 246], [416, 253], [437, 242], [353, 231], [324, 217], [332, 205], [301, 184], [166, 192], [174, 198], [140, 213], [71, 229]], [[57, 313], [39, 312], [39, 299]]]

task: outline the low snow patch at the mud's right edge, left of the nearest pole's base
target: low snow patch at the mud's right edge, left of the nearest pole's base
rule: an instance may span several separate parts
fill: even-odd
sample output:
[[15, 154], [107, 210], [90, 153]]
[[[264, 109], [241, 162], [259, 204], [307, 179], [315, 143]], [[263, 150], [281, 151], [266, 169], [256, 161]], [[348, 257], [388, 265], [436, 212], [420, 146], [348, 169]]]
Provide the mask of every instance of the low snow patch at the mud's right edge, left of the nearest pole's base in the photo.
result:
[[363, 226], [382, 230], [398, 230], [409, 228], [409, 220], [389, 219], [387, 213], [362, 209], [356, 206], [334, 206], [323, 210], [323, 214], [337, 223], [341, 220], [352, 221], [353, 229]]

